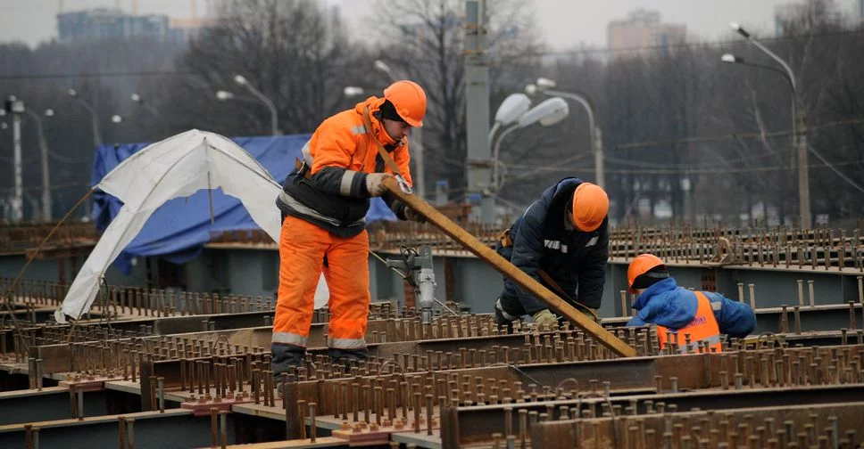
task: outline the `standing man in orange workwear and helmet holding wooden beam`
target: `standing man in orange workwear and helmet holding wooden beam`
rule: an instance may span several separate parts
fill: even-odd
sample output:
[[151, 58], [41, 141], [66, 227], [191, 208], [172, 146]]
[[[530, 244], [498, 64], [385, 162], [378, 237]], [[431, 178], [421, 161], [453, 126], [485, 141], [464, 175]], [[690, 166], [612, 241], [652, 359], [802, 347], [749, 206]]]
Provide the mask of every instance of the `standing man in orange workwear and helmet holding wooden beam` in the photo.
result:
[[303, 161], [297, 160], [277, 200], [285, 218], [270, 346], [274, 376], [303, 363], [322, 270], [330, 293], [329, 355], [335, 363], [366, 359], [370, 291], [364, 216], [370, 198], [380, 196], [400, 219], [423, 221], [383, 183], [396, 175], [396, 167], [411, 184], [408, 136], [412, 127], [423, 125], [425, 114], [423, 89], [396, 81], [384, 98], [370, 97], [324, 120], [303, 146]]

